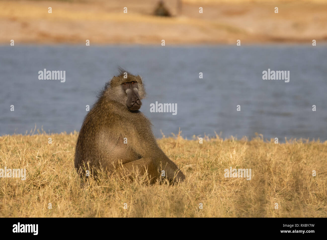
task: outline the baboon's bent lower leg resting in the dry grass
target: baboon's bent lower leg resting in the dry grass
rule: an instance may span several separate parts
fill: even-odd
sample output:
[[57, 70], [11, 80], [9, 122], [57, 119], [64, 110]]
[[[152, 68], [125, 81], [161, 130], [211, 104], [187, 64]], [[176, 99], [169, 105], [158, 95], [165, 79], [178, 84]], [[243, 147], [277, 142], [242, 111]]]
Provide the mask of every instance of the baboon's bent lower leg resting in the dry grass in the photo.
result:
[[150, 179], [150, 184], [155, 183], [158, 178], [158, 169], [154, 166], [152, 159], [140, 158], [138, 160], [123, 164], [122, 174], [133, 178], [136, 175], [147, 175]]

